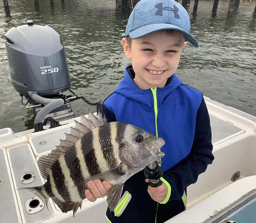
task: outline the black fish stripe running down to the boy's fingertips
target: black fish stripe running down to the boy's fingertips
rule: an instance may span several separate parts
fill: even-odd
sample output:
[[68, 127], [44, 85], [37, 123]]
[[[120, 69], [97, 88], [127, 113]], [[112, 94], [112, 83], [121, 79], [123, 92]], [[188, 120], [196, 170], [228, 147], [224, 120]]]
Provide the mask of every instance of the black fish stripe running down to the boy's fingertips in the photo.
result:
[[[78, 184], [79, 182], [84, 181], [84, 177], [80, 167], [80, 161], [76, 155], [76, 150], [75, 150], [76, 145], [73, 145], [73, 146], [74, 146], [73, 148], [70, 148], [65, 153], [64, 158], [69, 170], [70, 177], [72, 178], [75, 184]], [[86, 197], [85, 197], [84, 191], [87, 189], [85, 184], [76, 186], [76, 188], [81, 199], [85, 199]]]

